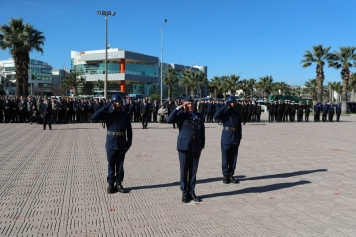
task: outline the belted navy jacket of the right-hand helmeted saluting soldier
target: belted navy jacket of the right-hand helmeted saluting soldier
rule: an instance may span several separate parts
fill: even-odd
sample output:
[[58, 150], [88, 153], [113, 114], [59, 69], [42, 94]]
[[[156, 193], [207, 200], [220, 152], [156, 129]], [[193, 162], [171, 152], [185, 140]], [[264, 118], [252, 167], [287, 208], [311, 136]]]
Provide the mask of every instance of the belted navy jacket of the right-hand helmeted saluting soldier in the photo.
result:
[[223, 124], [221, 143], [239, 145], [242, 138], [240, 113], [226, 104], [216, 111], [214, 119], [220, 119]]

